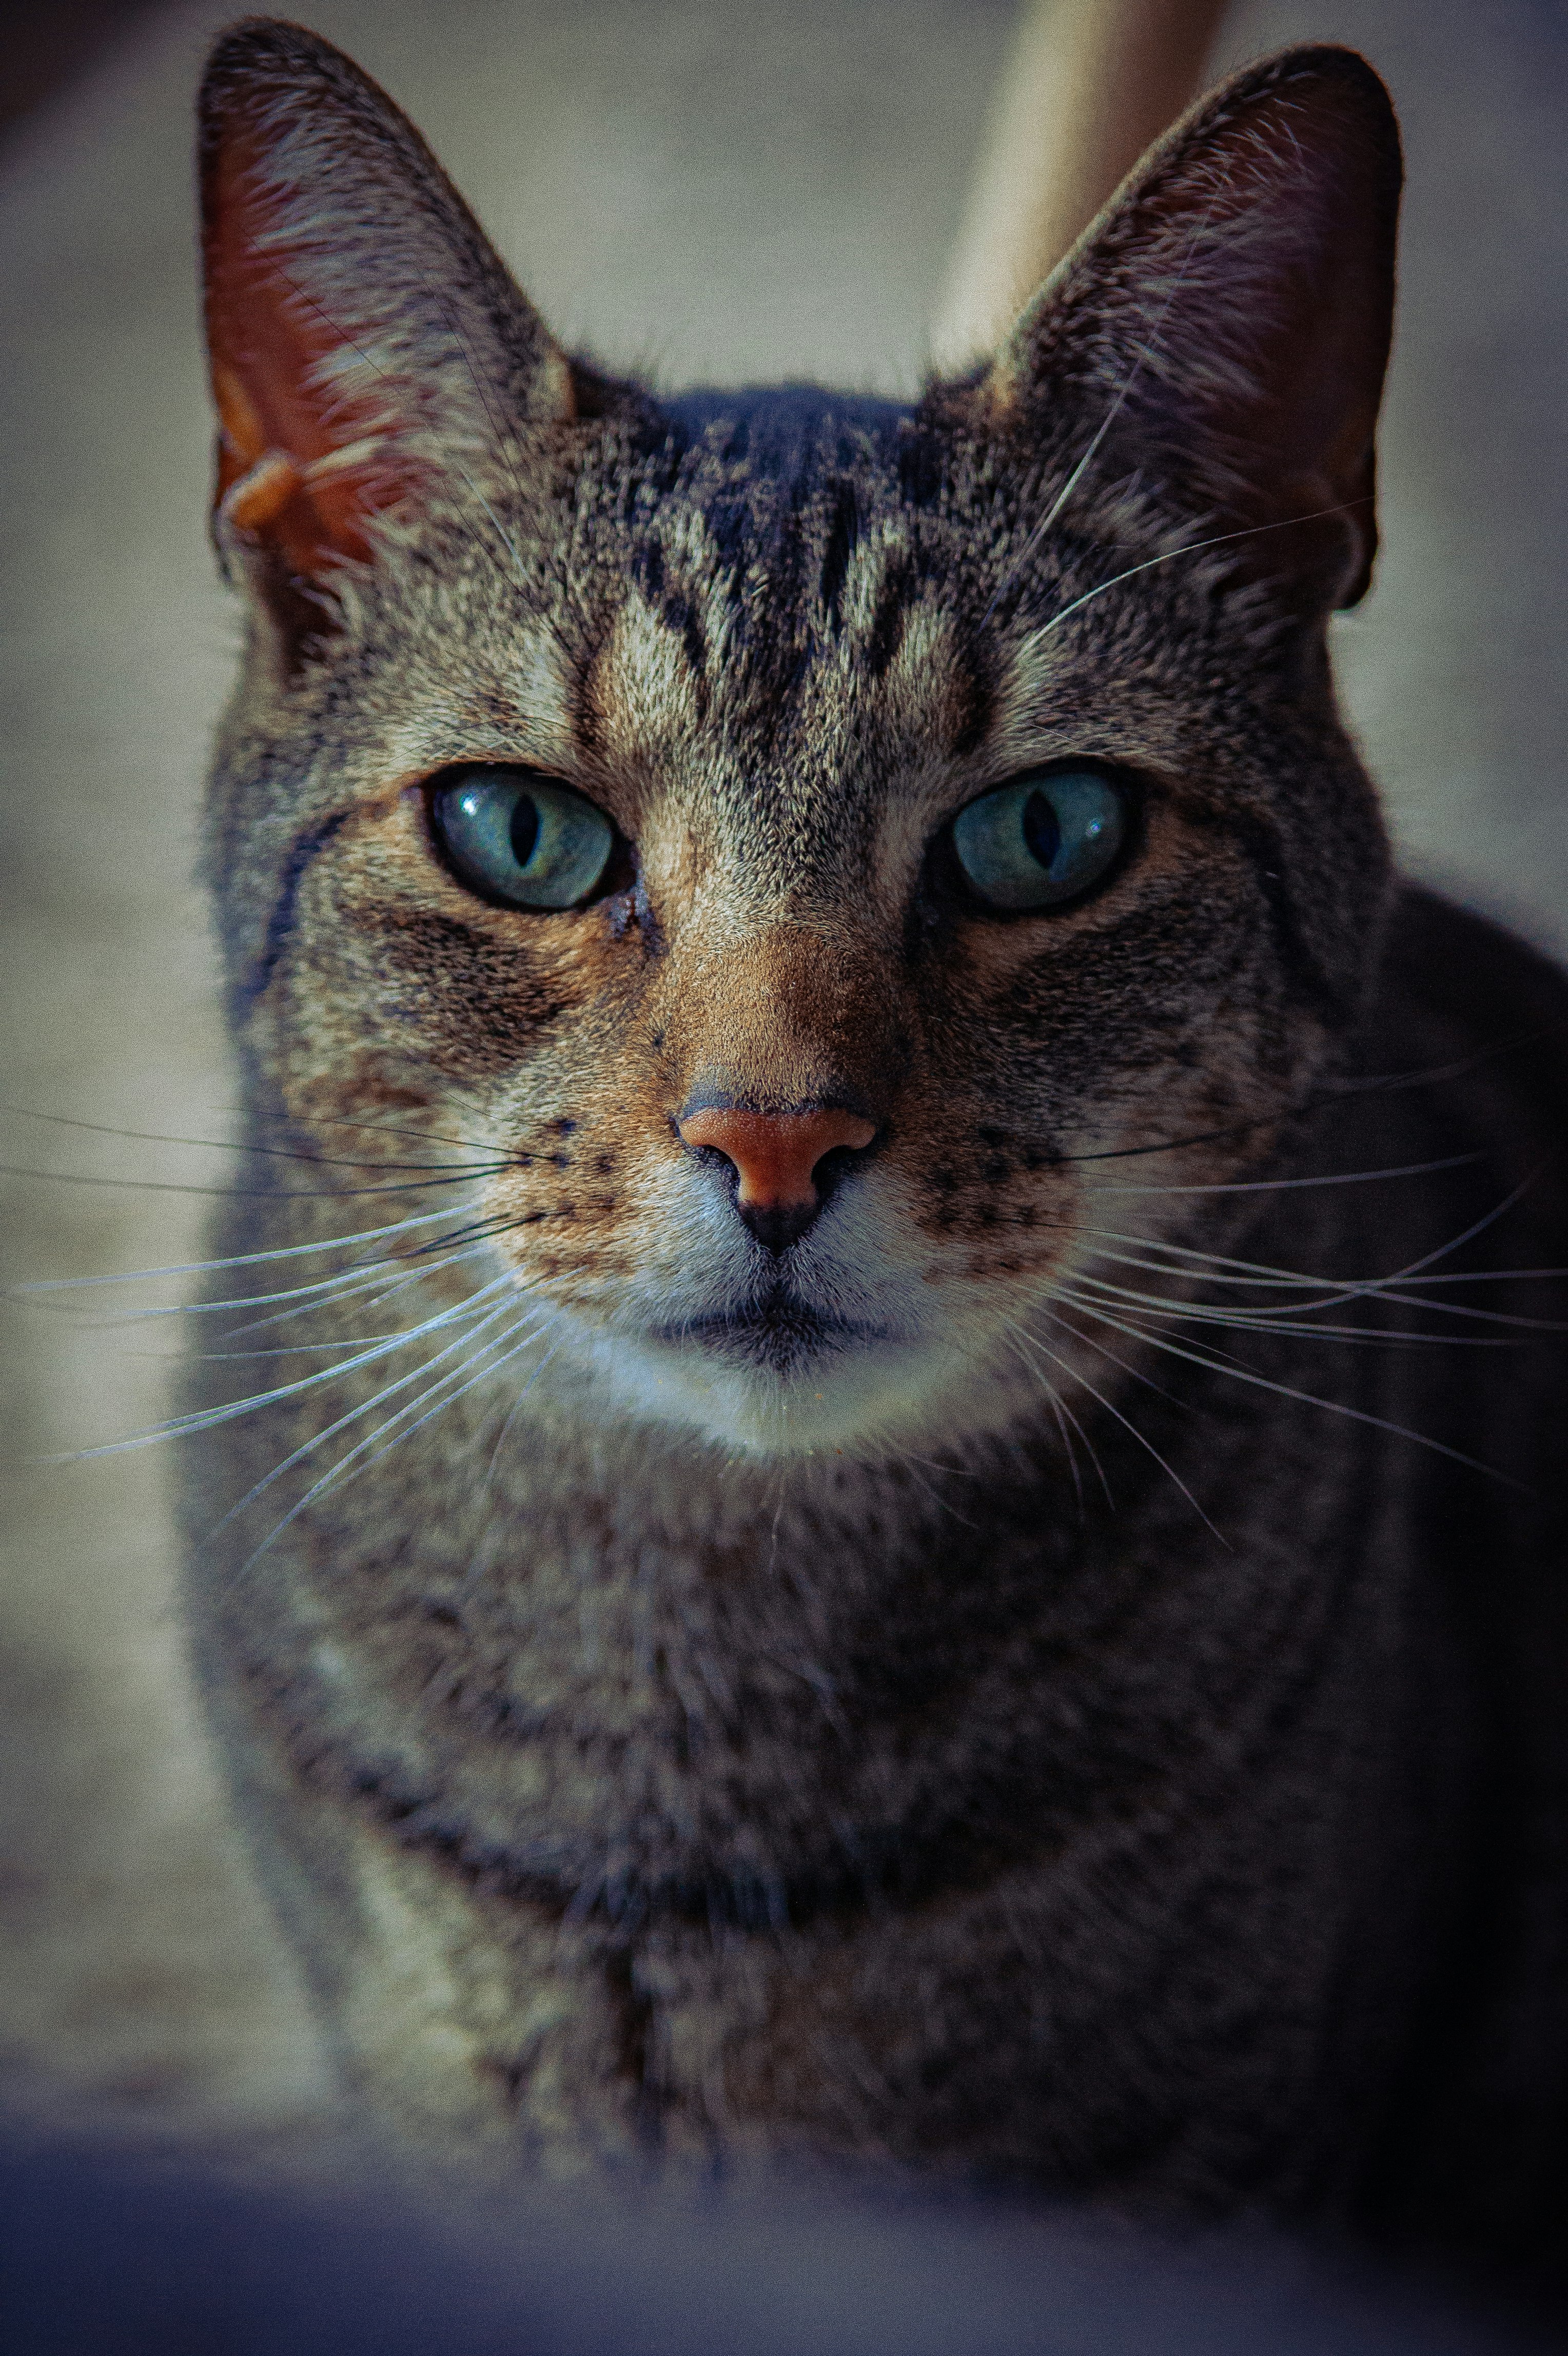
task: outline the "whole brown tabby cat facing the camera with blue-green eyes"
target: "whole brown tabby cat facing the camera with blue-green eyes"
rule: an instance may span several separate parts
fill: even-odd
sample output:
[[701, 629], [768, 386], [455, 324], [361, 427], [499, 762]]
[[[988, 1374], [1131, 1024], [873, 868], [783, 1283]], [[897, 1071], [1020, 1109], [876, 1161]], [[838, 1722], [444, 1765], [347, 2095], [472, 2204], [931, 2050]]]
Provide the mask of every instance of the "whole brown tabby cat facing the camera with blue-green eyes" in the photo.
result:
[[200, 158], [193, 1614], [348, 2071], [1549, 2262], [1568, 987], [1335, 716], [1382, 85], [1224, 85], [913, 408], [567, 358], [294, 26]]

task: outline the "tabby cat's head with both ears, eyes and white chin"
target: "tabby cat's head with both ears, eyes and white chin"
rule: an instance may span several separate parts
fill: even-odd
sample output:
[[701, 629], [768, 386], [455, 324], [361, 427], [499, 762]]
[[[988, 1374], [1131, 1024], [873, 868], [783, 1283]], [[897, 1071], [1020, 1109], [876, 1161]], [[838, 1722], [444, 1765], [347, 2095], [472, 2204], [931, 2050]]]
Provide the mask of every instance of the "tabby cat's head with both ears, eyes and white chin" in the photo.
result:
[[483, 1166], [490, 1279], [607, 1411], [1038, 1416], [1104, 1237], [1271, 1150], [1375, 954], [1323, 631], [1375, 544], [1382, 85], [1224, 85], [909, 410], [565, 356], [299, 28], [219, 42], [200, 158], [261, 1119]]

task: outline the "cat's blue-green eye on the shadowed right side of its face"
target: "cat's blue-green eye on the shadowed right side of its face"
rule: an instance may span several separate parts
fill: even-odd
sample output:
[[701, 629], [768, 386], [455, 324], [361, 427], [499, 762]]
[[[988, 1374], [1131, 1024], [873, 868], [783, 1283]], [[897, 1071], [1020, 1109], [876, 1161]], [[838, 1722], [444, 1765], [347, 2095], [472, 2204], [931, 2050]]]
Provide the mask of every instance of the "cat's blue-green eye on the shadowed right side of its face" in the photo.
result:
[[1097, 884], [1128, 839], [1128, 803], [1092, 768], [1015, 777], [954, 820], [954, 851], [989, 907], [1059, 907]]

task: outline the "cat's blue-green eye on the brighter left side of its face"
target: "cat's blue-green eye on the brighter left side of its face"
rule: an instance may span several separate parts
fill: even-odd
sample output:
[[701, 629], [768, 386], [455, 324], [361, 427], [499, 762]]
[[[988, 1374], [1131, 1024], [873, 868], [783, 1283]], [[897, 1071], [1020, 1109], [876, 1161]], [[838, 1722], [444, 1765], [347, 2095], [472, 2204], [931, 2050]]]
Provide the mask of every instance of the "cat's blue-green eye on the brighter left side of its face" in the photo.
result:
[[603, 881], [614, 827], [532, 768], [466, 768], [436, 789], [431, 825], [464, 884], [511, 907], [577, 907]]

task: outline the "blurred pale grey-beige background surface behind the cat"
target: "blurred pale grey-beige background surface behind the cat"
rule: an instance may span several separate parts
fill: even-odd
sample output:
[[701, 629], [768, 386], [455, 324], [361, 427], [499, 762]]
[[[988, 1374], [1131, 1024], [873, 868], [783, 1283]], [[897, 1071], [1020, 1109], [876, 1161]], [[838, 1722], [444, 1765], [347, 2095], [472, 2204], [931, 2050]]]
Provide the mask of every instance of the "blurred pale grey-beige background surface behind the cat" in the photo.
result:
[[[24, 1110], [184, 1138], [228, 1119], [188, 886], [233, 653], [202, 518], [188, 106], [228, 14], [148, 12], [0, 151], [0, 1145], [9, 1164], [158, 1187], [221, 1183], [221, 1154]], [[1010, 33], [1001, 0], [301, 14], [414, 113], [567, 339], [671, 384], [918, 382]], [[1413, 174], [1384, 558], [1340, 629], [1344, 688], [1415, 865], [1568, 947], [1568, 14], [1243, 0], [1217, 59], [1302, 35], [1384, 71]], [[9, 1180], [7, 1277], [188, 1260], [200, 1209]], [[7, 2099], [287, 2125], [320, 2106], [323, 2071], [188, 1708], [158, 1451], [38, 1463], [158, 1418], [170, 1326], [24, 1305], [7, 1336]]]

